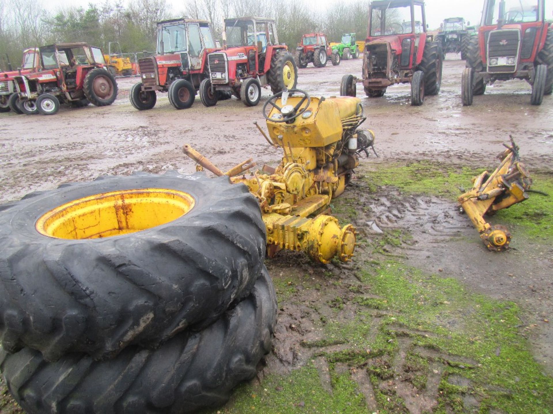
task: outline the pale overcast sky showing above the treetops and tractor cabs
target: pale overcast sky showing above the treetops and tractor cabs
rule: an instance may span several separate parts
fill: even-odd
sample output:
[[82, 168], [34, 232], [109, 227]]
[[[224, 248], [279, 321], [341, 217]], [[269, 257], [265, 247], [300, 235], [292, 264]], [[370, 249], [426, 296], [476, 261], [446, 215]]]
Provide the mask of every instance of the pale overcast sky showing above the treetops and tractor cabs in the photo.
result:
[[[186, 4], [185, 0], [167, 0], [167, 2], [171, 4], [175, 13], [184, 10]], [[307, 4], [315, 2], [317, 7], [324, 7], [325, 4], [330, 4], [332, 0], [304, 0], [302, 4], [307, 6]], [[65, 7], [67, 4], [86, 8], [88, 3], [100, 5], [103, 0], [71, 0], [71, 2], [67, 2], [67, 0], [47, 0], [42, 3], [45, 8], [55, 10], [60, 6]], [[430, 28], [435, 29], [447, 17], [464, 17], [471, 24], [477, 24], [480, 22], [483, 4], [483, 0], [426, 0], [427, 23], [430, 24]], [[545, 7], [546, 18], [551, 19], [553, 17], [553, 0], [545, 0]]]

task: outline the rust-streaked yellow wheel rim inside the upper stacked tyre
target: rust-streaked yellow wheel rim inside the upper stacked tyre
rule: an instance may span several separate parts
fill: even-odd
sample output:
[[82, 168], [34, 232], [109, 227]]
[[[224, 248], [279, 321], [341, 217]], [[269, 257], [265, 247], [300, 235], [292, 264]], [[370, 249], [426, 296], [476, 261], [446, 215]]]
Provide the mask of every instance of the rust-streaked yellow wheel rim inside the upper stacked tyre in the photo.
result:
[[73, 240], [119, 236], [176, 220], [194, 204], [190, 194], [164, 188], [114, 191], [60, 205], [41, 216], [35, 228]]

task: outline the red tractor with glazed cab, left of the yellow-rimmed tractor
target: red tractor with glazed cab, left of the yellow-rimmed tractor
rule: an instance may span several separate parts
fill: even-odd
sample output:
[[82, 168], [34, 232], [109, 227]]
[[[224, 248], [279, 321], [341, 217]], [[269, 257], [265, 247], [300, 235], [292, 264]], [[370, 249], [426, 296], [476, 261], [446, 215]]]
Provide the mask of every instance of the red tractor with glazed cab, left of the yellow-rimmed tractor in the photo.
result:
[[[142, 81], [131, 88], [131, 104], [138, 110], [152, 109], [156, 91], [168, 92], [176, 109], [190, 108], [200, 83], [208, 78], [206, 56], [217, 50], [211, 26], [205, 20], [172, 19], [158, 23], [156, 56], [138, 60]], [[229, 97], [220, 94], [218, 98]]]

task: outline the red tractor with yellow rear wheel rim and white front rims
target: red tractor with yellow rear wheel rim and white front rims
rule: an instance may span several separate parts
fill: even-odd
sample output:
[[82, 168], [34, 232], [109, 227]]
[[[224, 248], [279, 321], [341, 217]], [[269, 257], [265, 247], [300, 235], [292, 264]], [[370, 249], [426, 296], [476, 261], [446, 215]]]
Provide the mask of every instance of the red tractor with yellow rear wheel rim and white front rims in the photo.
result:
[[273, 94], [295, 89], [298, 68], [285, 45], [278, 43], [273, 19], [225, 19], [224, 50], [208, 55], [209, 78], [200, 84], [206, 107], [217, 103], [220, 92], [231, 92], [252, 107], [259, 103], [261, 87]]

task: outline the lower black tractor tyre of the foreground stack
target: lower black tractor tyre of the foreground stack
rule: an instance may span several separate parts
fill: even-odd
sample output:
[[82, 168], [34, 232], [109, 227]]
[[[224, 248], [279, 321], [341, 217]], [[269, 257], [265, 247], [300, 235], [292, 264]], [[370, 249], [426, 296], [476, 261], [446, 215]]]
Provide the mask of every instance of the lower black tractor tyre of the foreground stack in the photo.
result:
[[71, 353], [46, 362], [30, 348], [1, 350], [0, 368], [29, 414], [194, 412], [225, 404], [235, 386], [255, 377], [271, 349], [277, 310], [263, 269], [251, 294], [213, 325], [179, 333], [154, 351], [132, 346], [108, 360]]

